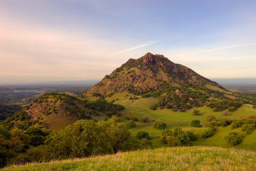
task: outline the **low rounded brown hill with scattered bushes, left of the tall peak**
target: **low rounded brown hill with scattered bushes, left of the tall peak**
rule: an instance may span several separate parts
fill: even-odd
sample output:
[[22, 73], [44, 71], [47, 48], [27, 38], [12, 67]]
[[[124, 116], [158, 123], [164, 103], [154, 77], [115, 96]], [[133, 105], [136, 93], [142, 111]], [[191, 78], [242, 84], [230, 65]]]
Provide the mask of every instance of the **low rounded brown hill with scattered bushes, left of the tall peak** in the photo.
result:
[[88, 101], [65, 93], [47, 93], [36, 98], [5, 122], [6, 128], [26, 130], [30, 126], [59, 131], [79, 119], [102, 120], [124, 110], [104, 99]]

